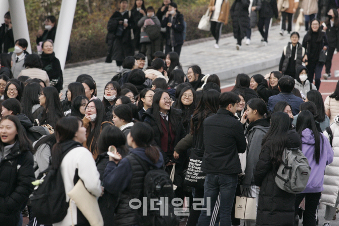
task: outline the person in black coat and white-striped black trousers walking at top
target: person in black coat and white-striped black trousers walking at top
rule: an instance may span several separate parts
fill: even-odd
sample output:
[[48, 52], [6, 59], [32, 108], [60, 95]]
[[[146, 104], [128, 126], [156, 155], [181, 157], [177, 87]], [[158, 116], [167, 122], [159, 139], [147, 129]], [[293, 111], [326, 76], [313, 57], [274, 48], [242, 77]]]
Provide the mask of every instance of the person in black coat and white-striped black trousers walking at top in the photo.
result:
[[[275, 0], [262, 0], [262, 5], [259, 10], [258, 29], [262, 36], [262, 45], [267, 46], [268, 32], [272, 24], [273, 16], [278, 19], [278, 7]], [[264, 31], [265, 26], [265, 31]]]

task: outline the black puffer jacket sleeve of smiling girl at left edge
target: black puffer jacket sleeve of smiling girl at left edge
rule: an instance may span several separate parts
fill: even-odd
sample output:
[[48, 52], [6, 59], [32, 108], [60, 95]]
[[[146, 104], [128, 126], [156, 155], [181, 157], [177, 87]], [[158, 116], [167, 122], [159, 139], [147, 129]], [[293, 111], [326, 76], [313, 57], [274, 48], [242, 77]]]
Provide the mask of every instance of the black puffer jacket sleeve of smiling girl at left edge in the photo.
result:
[[35, 180], [33, 155], [30, 151], [21, 154], [21, 166], [17, 172], [16, 188], [8, 198], [0, 198], [0, 209], [9, 213], [18, 212], [33, 192], [32, 182]]

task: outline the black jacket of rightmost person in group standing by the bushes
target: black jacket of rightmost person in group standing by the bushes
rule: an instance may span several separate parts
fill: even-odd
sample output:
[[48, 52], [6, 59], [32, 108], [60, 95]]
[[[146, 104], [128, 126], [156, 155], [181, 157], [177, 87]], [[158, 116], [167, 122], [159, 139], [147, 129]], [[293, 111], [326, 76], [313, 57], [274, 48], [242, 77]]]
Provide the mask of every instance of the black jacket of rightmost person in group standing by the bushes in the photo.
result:
[[177, 13], [175, 16], [175, 21], [172, 23], [172, 27], [168, 27], [167, 23], [172, 23], [172, 15], [163, 18], [161, 21], [161, 27], [166, 28], [166, 44], [172, 46], [171, 43], [171, 30], [174, 31], [175, 46], [180, 46], [184, 43], [183, 32], [185, 29], [184, 25], [184, 15]]

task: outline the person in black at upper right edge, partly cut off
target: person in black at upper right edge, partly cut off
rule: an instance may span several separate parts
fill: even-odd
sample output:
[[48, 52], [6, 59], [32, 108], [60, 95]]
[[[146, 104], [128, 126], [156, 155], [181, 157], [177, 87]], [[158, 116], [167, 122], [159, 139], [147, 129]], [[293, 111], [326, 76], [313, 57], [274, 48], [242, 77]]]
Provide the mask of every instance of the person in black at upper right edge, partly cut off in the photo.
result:
[[327, 13], [327, 19], [325, 23], [322, 23], [323, 30], [326, 31], [326, 36], [328, 40], [328, 51], [325, 62], [325, 74], [322, 76], [324, 79], [331, 77], [331, 67], [332, 67], [332, 58], [335, 49], [339, 50], [339, 18], [338, 11], [335, 9], [330, 9]]

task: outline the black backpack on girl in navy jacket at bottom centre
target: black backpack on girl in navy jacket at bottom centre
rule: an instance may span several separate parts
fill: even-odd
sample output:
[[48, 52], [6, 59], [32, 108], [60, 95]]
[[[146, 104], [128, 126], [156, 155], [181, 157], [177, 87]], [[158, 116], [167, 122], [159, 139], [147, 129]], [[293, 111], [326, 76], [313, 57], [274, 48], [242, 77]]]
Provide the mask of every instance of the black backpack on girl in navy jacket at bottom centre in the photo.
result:
[[[130, 158], [130, 156], [126, 156]], [[163, 169], [155, 169], [149, 166], [139, 156], [132, 154], [145, 171], [144, 196], [147, 198], [147, 215], [143, 216], [143, 208], [140, 208], [139, 225], [140, 226], [175, 226], [179, 223], [179, 217], [174, 214], [172, 200], [176, 197], [173, 191], [173, 183]], [[161, 199], [160, 199], [161, 198]], [[160, 214], [161, 207], [158, 210], [151, 210], [151, 199], [163, 200], [168, 198], [168, 214]], [[164, 203], [165, 205], [167, 203]], [[156, 203], [154, 203], [156, 206]], [[159, 207], [159, 206], [156, 206]], [[167, 208], [167, 206], [166, 206]]]

